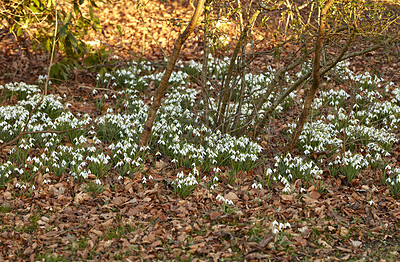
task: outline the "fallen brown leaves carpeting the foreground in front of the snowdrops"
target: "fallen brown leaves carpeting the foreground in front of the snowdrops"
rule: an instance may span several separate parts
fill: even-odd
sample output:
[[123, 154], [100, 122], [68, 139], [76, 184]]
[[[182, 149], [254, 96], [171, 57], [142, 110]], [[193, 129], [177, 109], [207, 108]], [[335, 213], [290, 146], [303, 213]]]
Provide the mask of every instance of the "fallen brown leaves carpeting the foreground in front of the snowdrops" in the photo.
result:
[[[160, 27], [159, 34], [165, 38], [162, 45], [168, 48], [172, 41], [168, 39], [175, 37], [166, 34], [164, 28], [167, 27]], [[140, 46], [140, 39], [130, 43]], [[153, 45], [149, 44], [150, 49], [157, 49]], [[147, 53], [153, 58], [161, 55], [159, 50]], [[188, 54], [184, 56], [191, 59]], [[73, 110], [95, 111], [95, 105], [82, 106], [75, 101], [87, 97], [85, 92], [72, 92]], [[285, 121], [273, 121], [278, 122], [272, 131], [279, 133]], [[281, 137], [272, 136], [272, 141], [262, 143], [273, 144], [277, 149], [281, 141]], [[275, 149], [264, 153], [274, 155]], [[399, 146], [392, 153], [396, 161], [400, 159]], [[218, 192], [234, 203], [232, 210], [227, 206], [224, 212], [215, 193], [205, 187], [196, 187], [185, 199], [175, 195], [170, 186], [175, 176], [168, 168], [167, 160], [159, 160], [155, 166], [148, 166], [146, 175], [153, 178], [146, 185], [140, 176], [114, 179], [96, 197], [68, 176], [40, 174], [35, 190], [17, 197], [17, 181], [9, 182], [0, 189], [0, 257], [10, 261], [51, 257], [124, 261], [367, 261], [371, 256], [379, 258], [382, 250], [392, 258], [400, 256], [400, 202], [380, 183], [373, 183], [373, 190], [362, 183], [351, 186], [342, 178], [324, 175], [324, 193], [314, 186], [302, 191], [298, 183], [288, 195], [281, 188], [252, 189], [254, 177], [249, 172], [243, 174], [238, 187], [219, 183]], [[366, 176], [372, 181], [376, 179], [373, 172]], [[45, 179], [53, 183], [43, 183]], [[274, 234], [273, 221], [287, 222], [290, 227]]]

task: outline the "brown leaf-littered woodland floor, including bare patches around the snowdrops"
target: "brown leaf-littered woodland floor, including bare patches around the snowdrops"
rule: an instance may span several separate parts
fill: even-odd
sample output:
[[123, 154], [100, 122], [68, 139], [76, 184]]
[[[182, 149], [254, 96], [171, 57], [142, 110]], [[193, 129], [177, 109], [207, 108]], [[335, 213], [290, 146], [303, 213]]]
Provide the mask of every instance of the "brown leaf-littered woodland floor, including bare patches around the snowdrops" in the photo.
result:
[[[179, 19], [189, 20], [192, 14], [191, 6], [181, 2], [149, 1], [142, 12], [134, 1], [102, 7], [99, 16], [104, 18], [103, 34], [89, 35], [87, 41], [106, 45], [120, 61], [141, 58], [160, 64], [182, 30]], [[122, 24], [123, 34], [118, 34], [116, 25]], [[195, 35], [185, 44], [181, 60], [200, 59], [201, 32], [196, 31]], [[237, 35], [230, 37], [235, 39]], [[28, 42], [15, 42], [7, 36], [0, 42], [0, 50], [0, 84], [33, 84], [45, 74], [47, 56], [32, 52]], [[395, 61], [399, 56], [390, 58], [389, 62], [387, 56], [374, 52], [352, 60], [351, 68], [356, 73], [380, 72], [385, 80], [400, 87], [400, 61]], [[260, 71], [268, 64], [279, 65], [272, 56], [257, 63]], [[50, 93], [63, 97], [62, 103], [69, 103], [73, 114], [87, 113], [93, 118], [105, 115], [117, 102], [110, 98], [99, 106], [99, 94], [111, 97], [114, 92], [96, 88], [96, 75], [85, 70], [77, 70], [67, 82], [51, 85]], [[0, 106], [15, 104], [16, 100], [1, 99]], [[290, 110], [284, 117], [272, 120], [269, 133], [259, 142], [264, 148], [260, 159], [265, 163], [272, 163], [276, 155], [285, 152], [290, 136], [284, 129], [300, 109], [293, 106]], [[96, 146], [106, 152], [109, 143]], [[2, 163], [9, 160], [12, 148], [1, 152]], [[264, 164], [239, 172], [240, 182], [236, 183], [224, 182], [229, 179], [229, 167], [222, 166], [215, 191], [207, 182], [199, 181], [192, 194], [182, 199], [171, 182], [178, 172], [193, 171], [174, 165], [172, 157], [150, 152], [140, 173], [120, 178], [112, 168], [108, 176], [101, 178], [99, 191], [95, 176], [89, 176], [89, 183], [73, 179], [68, 172], [37, 172], [29, 182], [25, 181], [25, 188], [20, 185], [20, 177], [13, 177], [0, 187], [0, 259], [400, 260], [400, 201], [381, 181], [381, 170], [365, 168], [348, 182], [346, 177], [331, 175], [324, 169], [322, 185], [296, 180], [292, 181], [291, 193], [285, 194], [280, 183], [254, 188], [254, 181], [265, 175]], [[44, 150], [39, 147], [29, 151], [32, 158], [42, 153]], [[399, 167], [398, 142], [390, 153], [386, 160], [393, 168]], [[203, 175], [209, 178], [211, 172], [200, 177]], [[216, 195], [233, 205], [221, 203]]]

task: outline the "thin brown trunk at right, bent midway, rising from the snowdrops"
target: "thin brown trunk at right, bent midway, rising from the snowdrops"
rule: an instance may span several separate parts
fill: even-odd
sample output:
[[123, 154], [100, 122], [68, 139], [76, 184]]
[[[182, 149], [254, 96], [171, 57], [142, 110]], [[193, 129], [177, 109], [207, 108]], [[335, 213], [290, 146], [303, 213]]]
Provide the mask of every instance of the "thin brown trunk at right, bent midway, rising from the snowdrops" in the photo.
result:
[[297, 122], [296, 132], [293, 136], [293, 140], [289, 145], [289, 152], [292, 152], [294, 147], [296, 146], [297, 140], [300, 137], [301, 131], [303, 130], [304, 123], [310, 112], [312, 101], [314, 100], [315, 93], [317, 92], [320, 82], [321, 82], [321, 75], [319, 72], [320, 69], [320, 62], [321, 62], [321, 53], [322, 53], [322, 36], [325, 33], [325, 19], [326, 13], [328, 12], [329, 8], [332, 6], [334, 0], [328, 0], [325, 6], [321, 10], [320, 14], [320, 23], [319, 23], [319, 30], [317, 34], [317, 39], [315, 42], [315, 55], [314, 55], [314, 66], [313, 66], [313, 83], [311, 89], [307, 93], [307, 97], [304, 101], [304, 108], [300, 114], [299, 121]]

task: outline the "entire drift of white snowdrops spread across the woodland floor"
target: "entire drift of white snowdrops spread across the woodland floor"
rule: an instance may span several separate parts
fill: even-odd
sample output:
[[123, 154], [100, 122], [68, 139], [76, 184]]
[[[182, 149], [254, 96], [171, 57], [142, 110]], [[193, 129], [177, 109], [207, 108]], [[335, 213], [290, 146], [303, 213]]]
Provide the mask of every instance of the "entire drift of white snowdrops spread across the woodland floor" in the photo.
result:
[[[210, 88], [222, 83], [222, 76], [228, 65], [229, 58], [217, 60], [210, 57], [208, 73], [213, 78], [213, 84], [208, 83]], [[171, 88], [156, 117], [151, 146], [156, 147], [162, 154], [171, 156], [177, 165], [187, 168], [201, 166], [204, 172], [208, 172], [216, 166], [231, 166], [233, 171], [250, 170], [259, 157], [261, 147], [247, 137], [222, 134], [202, 125], [201, 116], [193, 110], [199, 101], [201, 103], [201, 99], [199, 100], [198, 91], [188, 88], [189, 73], [193, 70], [199, 73], [200, 68], [201, 64], [190, 62], [188, 67], [183, 67], [181, 71], [171, 75], [169, 80]], [[302, 67], [302, 70], [305, 71], [300, 72], [299, 76], [309, 70], [309, 67]], [[363, 152], [365, 157], [362, 157], [361, 154], [349, 155], [345, 152], [343, 158], [337, 160], [337, 164], [340, 162], [343, 167], [360, 170], [366, 166], [367, 160], [373, 164], [383, 156], [387, 156], [391, 146], [398, 142], [394, 130], [400, 124], [400, 106], [398, 104], [400, 91], [394, 89], [392, 92], [395, 96], [394, 99], [391, 102], [382, 102], [380, 101], [382, 95], [374, 90], [382, 84], [382, 79], [367, 73], [355, 75], [347, 68], [346, 63], [340, 63], [335, 70], [342, 76], [342, 79], [358, 83], [359, 88], [356, 90], [357, 97], [356, 104], [352, 108], [353, 111], [346, 112], [342, 107], [349, 99], [349, 94], [345, 91], [322, 91], [321, 97], [316, 99], [313, 107], [322, 109], [328, 105], [334, 110], [330, 110], [319, 120], [306, 124], [299, 138], [299, 145], [305, 154], [311, 154], [341, 148], [343, 134], [348, 140], [358, 141], [361, 139], [362, 144], [366, 145], [366, 152]], [[73, 146], [62, 145], [62, 136], [50, 133], [35, 134], [26, 140], [21, 140], [19, 148], [10, 151], [10, 155], [14, 157], [12, 159], [17, 159], [17, 154], [24, 156], [21, 154], [21, 150], [25, 150], [25, 153], [28, 154], [29, 149], [35, 146], [44, 147], [43, 156], [40, 156], [40, 161], [30, 158], [32, 161], [30, 165], [19, 163], [21, 168], [18, 170], [12, 170], [14, 167], [10, 164], [0, 164], [0, 171], [4, 171], [1, 175], [4, 173], [10, 176], [14, 171], [19, 172], [19, 170], [35, 172], [44, 168], [46, 172], [50, 171], [58, 175], [69, 171], [74, 177], [87, 178], [89, 174], [96, 173], [93, 169], [94, 164], [107, 168], [115, 167], [121, 176], [135, 172], [135, 168], [143, 165], [144, 155], [142, 153], [143, 150], [147, 150], [140, 150], [135, 144], [139, 134], [143, 131], [143, 123], [148, 114], [148, 107], [143, 102], [141, 91], [151, 82], [157, 84], [162, 76], [162, 73], [147, 74], [150, 71], [154, 71], [150, 64], [133, 62], [128, 68], [116, 70], [114, 74], [106, 73], [104, 76], [98, 76], [100, 85], [108, 84], [111, 81], [115, 87], [121, 88], [118, 95], [125, 97], [125, 103], [122, 104], [124, 113], [116, 114], [112, 109], [107, 110], [107, 114], [95, 119], [97, 129], [93, 128], [89, 132], [84, 130], [68, 132], [65, 136], [69, 138], [69, 142]], [[258, 99], [266, 96], [269, 92], [267, 87], [275, 74], [276, 71], [269, 67], [263, 74], [248, 73], [245, 75], [246, 99], [243, 101], [242, 111], [239, 112], [241, 114], [240, 121], [246, 119], [246, 116], [254, 110], [254, 101], [248, 98]], [[241, 91], [241, 85], [234, 84], [239, 81], [239, 77], [232, 80], [233, 96], [238, 96]], [[289, 75], [285, 75], [283, 81], [292, 83]], [[15, 105], [0, 107], [0, 142], [4, 142], [11, 140], [20, 132], [29, 115], [29, 110], [40, 101], [41, 95], [37, 86], [24, 83], [0, 86], [1, 90], [5, 90], [6, 95], [18, 94], [19, 100]], [[280, 92], [282, 91], [284, 90]], [[278, 95], [280, 95], [278, 91], [272, 91], [258, 113], [269, 110]], [[291, 93], [275, 111], [279, 112], [290, 106], [294, 95]], [[233, 117], [238, 113], [238, 106], [238, 102], [229, 103], [228, 117]], [[73, 115], [67, 111], [67, 107], [62, 104], [61, 98], [53, 95], [45, 96], [42, 104], [32, 115], [27, 130], [67, 130], [85, 125], [91, 120], [88, 115]], [[218, 101], [210, 97], [210, 112], [216, 112], [217, 108]], [[209, 117], [210, 122], [214, 123], [214, 114], [210, 113]], [[111, 152], [107, 155], [104, 152], [97, 152], [100, 150], [99, 147], [88, 145], [88, 143], [98, 145], [102, 141], [110, 143], [108, 149]], [[194, 170], [197, 171], [197, 169]], [[268, 172], [273, 173], [274, 179], [278, 179], [284, 184], [286, 192], [291, 190], [290, 181], [293, 178], [309, 180], [318, 178], [322, 173], [313, 161], [304, 161], [290, 155], [278, 157], [275, 169]], [[5, 177], [5, 175], [3, 176]], [[217, 179], [218, 176], [215, 175], [212, 186], [217, 183]], [[189, 174], [183, 177], [183, 173], [180, 173], [177, 180], [174, 181], [174, 186], [176, 188], [192, 187], [196, 183], [195, 175]], [[258, 184], [253, 186], [260, 188]]]

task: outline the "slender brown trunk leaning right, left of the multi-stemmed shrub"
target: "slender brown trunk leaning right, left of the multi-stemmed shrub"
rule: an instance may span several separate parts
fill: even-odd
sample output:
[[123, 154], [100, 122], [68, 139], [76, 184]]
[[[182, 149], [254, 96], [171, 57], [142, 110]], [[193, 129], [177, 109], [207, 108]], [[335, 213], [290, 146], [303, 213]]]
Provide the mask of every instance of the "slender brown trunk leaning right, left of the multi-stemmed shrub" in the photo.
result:
[[153, 103], [149, 108], [149, 114], [147, 116], [147, 120], [143, 126], [143, 132], [139, 138], [139, 146], [146, 146], [149, 142], [151, 130], [153, 128], [154, 119], [156, 118], [156, 114], [158, 109], [161, 106], [162, 98], [164, 97], [165, 93], [167, 92], [169, 86], [168, 81], [171, 77], [172, 71], [174, 70], [175, 63], [178, 60], [179, 53], [181, 51], [182, 45], [188, 39], [189, 35], [194, 31], [196, 24], [203, 13], [204, 3], [206, 0], [199, 0], [196, 6], [196, 10], [193, 13], [192, 19], [190, 20], [188, 26], [186, 27], [185, 31], [179, 35], [179, 37], [175, 41], [174, 49], [172, 51], [171, 56], [168, 59], [167, 67], [165, 69], [164, 75], [161, 78], [161, 82], [158, 88], [155, 91], [153, 96]]

